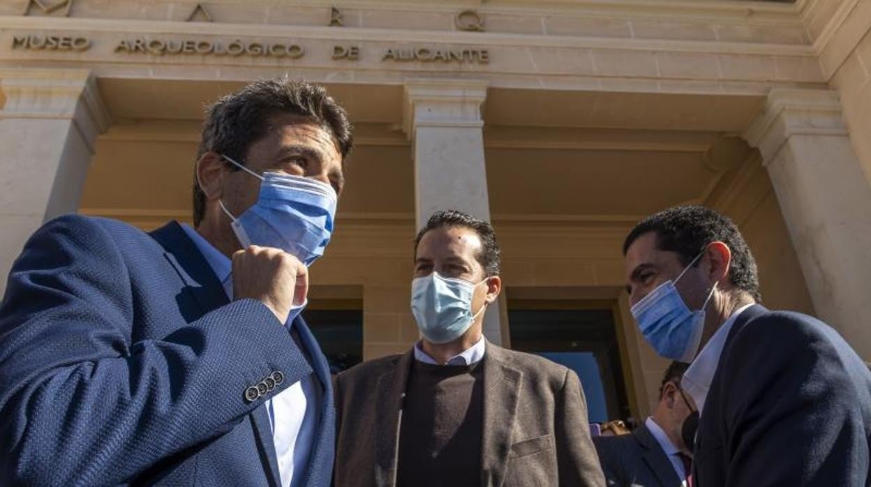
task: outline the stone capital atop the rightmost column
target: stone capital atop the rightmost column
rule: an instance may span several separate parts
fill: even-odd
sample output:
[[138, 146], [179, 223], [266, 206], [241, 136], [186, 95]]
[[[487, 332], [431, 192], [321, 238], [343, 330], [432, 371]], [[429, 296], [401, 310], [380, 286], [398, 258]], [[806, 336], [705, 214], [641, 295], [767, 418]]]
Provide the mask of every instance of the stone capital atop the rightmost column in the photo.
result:
[[744, 132], [767, 166], [793, 135], [847, 137], [836, 91], [773, 88], [762, 110]]

